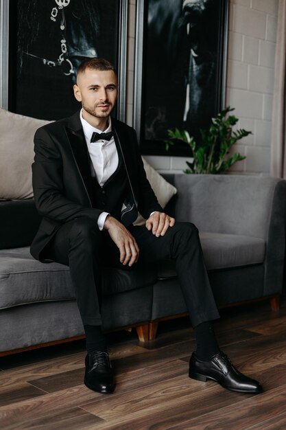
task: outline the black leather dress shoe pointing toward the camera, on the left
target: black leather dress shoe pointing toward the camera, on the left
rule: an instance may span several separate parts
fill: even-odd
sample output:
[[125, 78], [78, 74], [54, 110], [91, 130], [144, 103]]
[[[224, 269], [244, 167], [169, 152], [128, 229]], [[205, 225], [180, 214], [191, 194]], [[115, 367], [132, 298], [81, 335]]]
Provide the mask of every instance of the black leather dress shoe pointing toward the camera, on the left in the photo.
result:
[[112, 367], [107, 352], [93, 352], [86, 355], [86, 387], [99, 393], [112, 393], [115, 389]]

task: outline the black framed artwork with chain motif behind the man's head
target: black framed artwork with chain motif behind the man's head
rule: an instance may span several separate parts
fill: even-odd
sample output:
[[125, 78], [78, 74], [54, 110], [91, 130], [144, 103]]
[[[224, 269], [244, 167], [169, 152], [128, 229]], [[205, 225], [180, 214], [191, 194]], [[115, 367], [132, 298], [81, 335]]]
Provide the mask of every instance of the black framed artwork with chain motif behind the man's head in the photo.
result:
[[8, 109], [58, 120], [79, 109], [78, 66], [101, 56], [119, 73], [124, 120], [128, 0], [10, 0]]

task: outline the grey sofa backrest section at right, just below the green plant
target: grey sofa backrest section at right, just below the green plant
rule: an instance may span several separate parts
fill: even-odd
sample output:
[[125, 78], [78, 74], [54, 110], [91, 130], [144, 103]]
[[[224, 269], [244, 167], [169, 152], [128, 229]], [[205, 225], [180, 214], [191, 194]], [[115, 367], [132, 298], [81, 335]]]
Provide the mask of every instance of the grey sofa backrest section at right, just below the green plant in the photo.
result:
[[191, 221], [200, 231], [265, 239], [279, 181], [244, 175], [177, 174], [177, 220]]

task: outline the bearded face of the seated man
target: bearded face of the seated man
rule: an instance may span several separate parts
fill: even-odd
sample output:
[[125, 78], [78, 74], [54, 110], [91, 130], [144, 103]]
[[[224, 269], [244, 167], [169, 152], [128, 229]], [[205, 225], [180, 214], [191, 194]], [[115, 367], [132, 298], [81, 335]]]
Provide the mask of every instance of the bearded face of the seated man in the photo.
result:
[[73, 90], [88, 115], [106, 118], [117, 100], [117, 76], [112, 70], [86, 69], [78, 76]]

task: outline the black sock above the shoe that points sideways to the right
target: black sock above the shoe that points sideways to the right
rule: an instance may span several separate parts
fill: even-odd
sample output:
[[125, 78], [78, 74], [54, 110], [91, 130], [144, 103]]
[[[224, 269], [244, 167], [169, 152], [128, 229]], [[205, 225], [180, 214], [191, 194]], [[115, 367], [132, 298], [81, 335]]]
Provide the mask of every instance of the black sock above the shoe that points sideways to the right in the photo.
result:
[[198, 359], [210, 361], [213, 355], [220, 352], [212, 321], [203, 322], [193, 330], [195, 331], [195, 339], [197, 341], [197, 350], [195, 353]]

